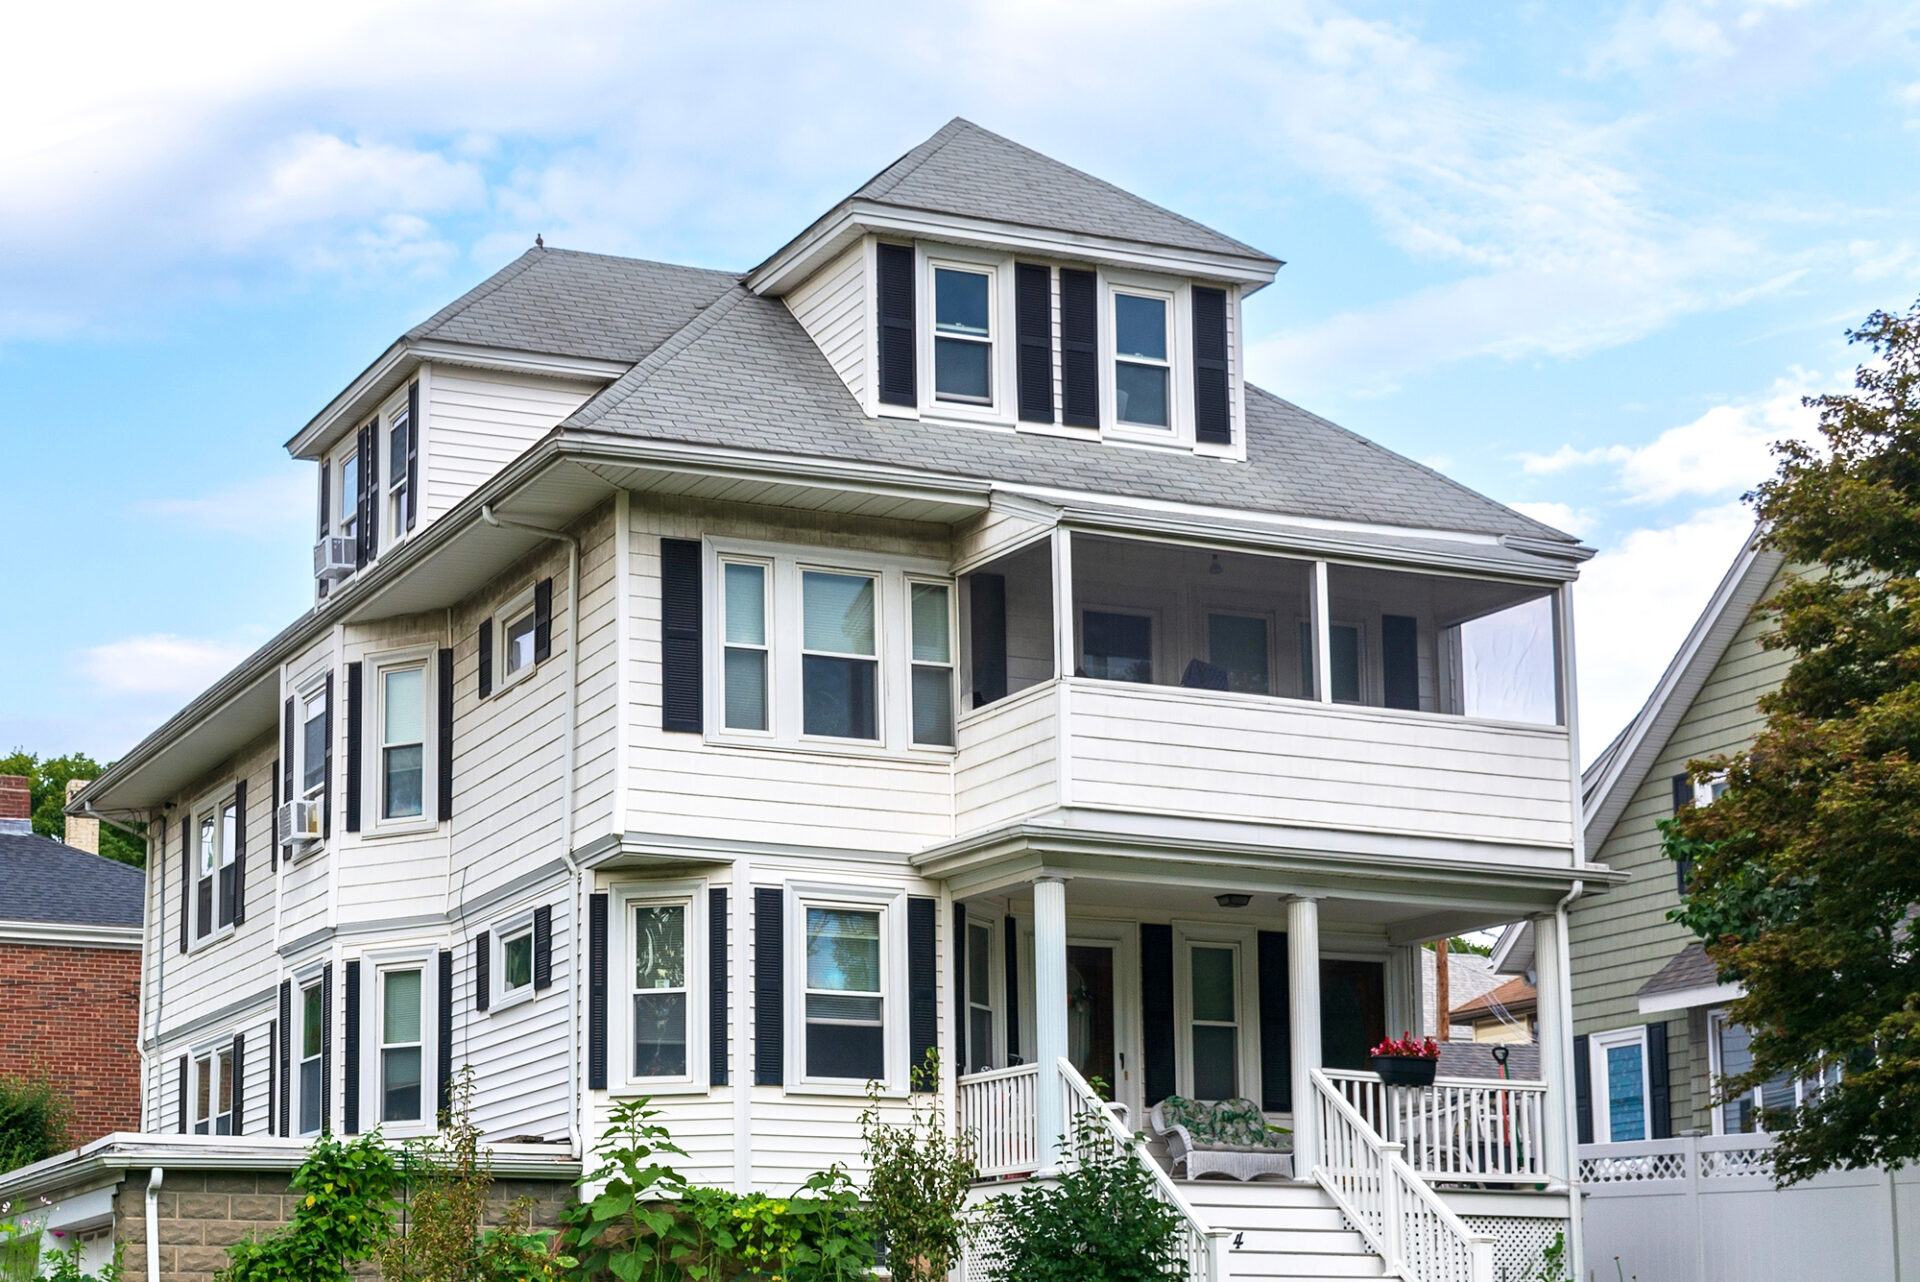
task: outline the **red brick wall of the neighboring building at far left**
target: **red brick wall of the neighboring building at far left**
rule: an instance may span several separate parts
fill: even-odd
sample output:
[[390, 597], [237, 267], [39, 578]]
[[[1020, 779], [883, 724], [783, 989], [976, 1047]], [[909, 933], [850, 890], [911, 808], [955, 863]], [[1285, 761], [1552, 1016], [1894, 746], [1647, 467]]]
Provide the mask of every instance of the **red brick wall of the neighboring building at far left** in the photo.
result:
[[140, 1128], [140, 954], [0, 944], [0, 1075], [46, 1071], [73, 1142]]

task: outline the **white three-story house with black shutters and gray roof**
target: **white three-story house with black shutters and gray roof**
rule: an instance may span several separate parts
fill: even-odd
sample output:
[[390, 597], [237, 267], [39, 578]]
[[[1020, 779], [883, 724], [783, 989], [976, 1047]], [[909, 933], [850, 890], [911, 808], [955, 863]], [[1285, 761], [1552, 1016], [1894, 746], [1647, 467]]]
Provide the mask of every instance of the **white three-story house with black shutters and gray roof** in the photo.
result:
[[[647, 1094], [791, 1188], [935, 1050], [1002, 1173], [1092, 1077], [1292, 1127], [1171, 1186], [1213, 1278], [1536, 1257], [1590, 549], [1250, 386], [1279, 267], [952, 121], [753, 271], [536, 248], [403, 334], [288, 443], [313, 610], [75, 802], [161, 835], [119, 1167], [472, 1065], [518, 1171]], [[1546, 1082], [1382, 1094], [1517, 917]]]

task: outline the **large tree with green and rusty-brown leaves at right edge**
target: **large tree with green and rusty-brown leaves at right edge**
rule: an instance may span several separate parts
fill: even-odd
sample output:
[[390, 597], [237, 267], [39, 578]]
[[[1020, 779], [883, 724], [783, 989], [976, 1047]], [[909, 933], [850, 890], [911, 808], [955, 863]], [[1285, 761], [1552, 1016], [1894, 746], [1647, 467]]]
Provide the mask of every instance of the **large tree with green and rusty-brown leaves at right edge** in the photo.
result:
[[1793, 568], [1763, 645], [1793, 664], [1753, 747], [1693, 764], [1726, 793], [1665, 823], [1674, 917], [1745, 992], [1753, 1069], [1722, 1094], [1822, 1084], [1766, 1119], [1780, 1184], [1920, 1157], [1920, 303], [1849, 340], [1872, 359], [1807, 401], [1824, 439], [1749, 495]]

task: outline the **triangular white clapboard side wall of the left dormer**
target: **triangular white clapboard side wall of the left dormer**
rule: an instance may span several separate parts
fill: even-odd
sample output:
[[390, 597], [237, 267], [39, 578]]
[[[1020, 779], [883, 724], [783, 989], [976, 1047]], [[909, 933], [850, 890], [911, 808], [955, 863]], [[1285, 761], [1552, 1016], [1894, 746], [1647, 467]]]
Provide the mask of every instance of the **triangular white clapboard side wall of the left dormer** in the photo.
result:
[[436, 520], [580, 409], [597, 384], [434, 365], [422, 449], [426, 520]]

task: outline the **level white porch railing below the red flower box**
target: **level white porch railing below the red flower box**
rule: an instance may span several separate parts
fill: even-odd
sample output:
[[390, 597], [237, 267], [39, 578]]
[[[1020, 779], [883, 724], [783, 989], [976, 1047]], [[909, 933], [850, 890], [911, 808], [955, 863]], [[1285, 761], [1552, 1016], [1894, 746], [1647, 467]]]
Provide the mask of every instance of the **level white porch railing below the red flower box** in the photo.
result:
[[1386, 1086], [1373, 1073], [1323, 1073], [1380, 1138], [1405, 1146], [1407, 1165], [1421, 1175], [1548, 1178], [1546, 1082], [1436, 1077], [1432, 1086]]

